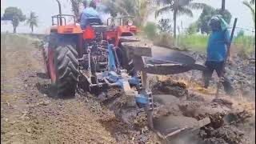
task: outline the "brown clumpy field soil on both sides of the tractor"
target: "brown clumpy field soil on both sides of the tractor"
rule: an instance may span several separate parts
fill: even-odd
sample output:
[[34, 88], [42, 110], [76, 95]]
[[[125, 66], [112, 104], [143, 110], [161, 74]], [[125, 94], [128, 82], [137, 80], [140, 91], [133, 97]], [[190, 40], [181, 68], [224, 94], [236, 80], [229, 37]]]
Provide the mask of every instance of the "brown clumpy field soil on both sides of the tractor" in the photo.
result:
[[[221, 91], [219, 98], [214, 97], [216, 80], [208, 90], [202, 89], [198, 71], [150, 75], [154, 126], [161, 134], [171, 124], [174, 128], [210, 118], [206, 126], [162, 139], [161, 134], [148, 128], [145, 110], [122, 90], [113, 88], [98, 97], [82, 90], [77, 90], [74, 98], [52, 97], [41, 50], [33, 45], [37, 40], [18, 34], [1, 35], [2, 143], [255, 142], [255, 73], [242, 72], [246, 69], [239, 63], [233, 70], [236, 73], [229, 69], [229, 74], [236, 78], [234, 86], [240, 91], [232, 96]], [[250, 81], [242, 80], [246, 78]]]

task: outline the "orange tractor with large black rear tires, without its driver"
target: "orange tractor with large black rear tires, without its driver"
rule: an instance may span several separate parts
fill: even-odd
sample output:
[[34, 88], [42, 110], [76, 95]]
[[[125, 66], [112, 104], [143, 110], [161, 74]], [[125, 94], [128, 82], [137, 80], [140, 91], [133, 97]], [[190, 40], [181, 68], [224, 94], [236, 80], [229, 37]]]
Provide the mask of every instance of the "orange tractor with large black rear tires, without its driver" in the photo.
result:
[[[59, 2], [58, 6], [59, 14], [52, 16], [49, 45], [43, 50], [46, 74], [58, 97], [74, 95], [78, 85], [87, 91], [92, 87], [101, 89], [110, 83], [102, 77], [106, 71], [133, 70], [122, 47], [122, 41], [138, 41], [134, 38], [137, 27], [132, 26], [132, 17], [109, 18], [106, 26], [100, 19], [88, 19], [90, 25], [82, 30], [74, 15], [62, 14]], [[67, 18], [73, 22], [67, 23]]]

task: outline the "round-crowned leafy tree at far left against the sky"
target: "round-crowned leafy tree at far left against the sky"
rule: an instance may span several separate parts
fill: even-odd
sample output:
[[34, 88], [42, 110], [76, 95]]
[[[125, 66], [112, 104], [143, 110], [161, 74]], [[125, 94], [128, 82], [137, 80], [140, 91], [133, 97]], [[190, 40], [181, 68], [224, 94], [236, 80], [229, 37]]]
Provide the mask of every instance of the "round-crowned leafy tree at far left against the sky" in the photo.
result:
[[17, 7], [7, 7], [5, 13], [2, 15], [2, 20], [11, 21], [14, 27], [14, 33], [16, 33], [19, 22], [25, 21], [26, 16]]

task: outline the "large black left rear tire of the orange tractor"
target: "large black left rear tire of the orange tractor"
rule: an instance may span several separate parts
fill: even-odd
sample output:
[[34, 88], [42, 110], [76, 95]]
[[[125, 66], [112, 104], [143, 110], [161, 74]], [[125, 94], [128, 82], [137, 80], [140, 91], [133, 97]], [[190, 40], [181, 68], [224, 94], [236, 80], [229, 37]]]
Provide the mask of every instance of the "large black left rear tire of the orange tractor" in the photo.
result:
[[75, 46], [58, 46], [54, 53], [58, 97], [74, 96], [78, 86], [78, 52]]

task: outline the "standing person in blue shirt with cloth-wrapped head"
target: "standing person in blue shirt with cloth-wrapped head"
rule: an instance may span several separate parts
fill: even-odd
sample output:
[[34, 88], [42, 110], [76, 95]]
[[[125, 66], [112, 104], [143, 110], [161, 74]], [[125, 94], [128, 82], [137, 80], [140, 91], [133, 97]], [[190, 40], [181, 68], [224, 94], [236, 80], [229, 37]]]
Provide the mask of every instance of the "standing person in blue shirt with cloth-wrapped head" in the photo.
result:
[[227, 30], [227, 23], [221, 15], [214, 16], [209, 22], [212, 33], [208, 39], [206, 67], [208, 70], [203, 72], [204, 88], [208, 88], [210, 78], [214, 70], [218, 78], [222, 78], [222, 85], [226, 94], [231, 94], [233, 87], [230, 81], [224, 77], [225, 63], [230, 58], [230, 34]]

